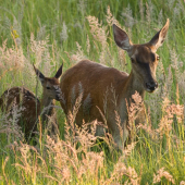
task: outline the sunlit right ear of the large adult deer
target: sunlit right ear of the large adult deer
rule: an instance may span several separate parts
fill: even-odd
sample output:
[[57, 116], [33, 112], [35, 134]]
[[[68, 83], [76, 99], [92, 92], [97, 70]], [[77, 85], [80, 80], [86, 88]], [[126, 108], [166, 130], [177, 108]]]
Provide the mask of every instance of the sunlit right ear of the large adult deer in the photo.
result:
[[168, 18], [165, 25], [149, 41], [149, 45], [155, 47], [155, 51], [157, 51], [157, 49], [160, 46], [162, 46], [162, 44], [165, 39], [166, 33], [169, 30], [169, 24], [170, 24], [170, 21]]

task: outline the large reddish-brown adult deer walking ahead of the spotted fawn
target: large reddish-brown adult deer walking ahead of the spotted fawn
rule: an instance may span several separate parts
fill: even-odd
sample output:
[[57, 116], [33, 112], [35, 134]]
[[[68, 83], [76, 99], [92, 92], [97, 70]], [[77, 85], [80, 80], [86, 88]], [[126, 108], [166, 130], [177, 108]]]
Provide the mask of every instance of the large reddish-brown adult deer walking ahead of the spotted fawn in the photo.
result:
[[[156, 69], [159, 55], [156, 51], [163, 44], [168, 29], [169, 20], [149, 42], [134, 45], [124, 30], [113, 25], [115, 44], [127, 51], [132, 61], [130, 75], [88, 60], [78, 62], [69, 69], [61, 78], [60, 87], [65, 101], [60, 102], [65, 114], [72, 111], [72, 100], [74, 95], [78, 95], [77, 89], [81, 86], [83, 88], [83, 100], [76, 114], [76, 124], [81, 126], [83, 120], [90, 122], [95, 119], [103, 122], [100, 112], [104, 113], [109, 132], [112, 133], [118, 146], [123, 148], [128, 136], [126, 101], [130, 104], [132, 95], [135, 91], [139, 92], [144, 99], [145, 91], [153, 92], [158, 88]], [[113, 92], [111, 88], [113, 88]], [[115, 102], [112, 102], [114, 100]], [[85, 110], [84, 107], [88, 107], [89, 110]], [[121, 119], [123, 138], [121, 138], [120, 130], [115, 122], [115, 110]], [[140, 112], [139, 119], [136, 120], [136, 124], [145, 121], [144, 112]], [[100, 127], [97, 127], [97, 135], [99, 135], [99, 132], [101, 132]]]

